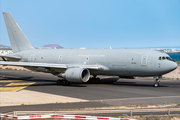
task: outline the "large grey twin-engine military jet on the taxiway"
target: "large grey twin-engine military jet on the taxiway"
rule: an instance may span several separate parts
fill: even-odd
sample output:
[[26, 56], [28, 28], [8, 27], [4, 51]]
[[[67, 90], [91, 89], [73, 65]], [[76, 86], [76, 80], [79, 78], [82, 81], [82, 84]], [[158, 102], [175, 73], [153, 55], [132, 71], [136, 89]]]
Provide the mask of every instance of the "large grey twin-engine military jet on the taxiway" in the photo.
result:
[[0, 55], [0, 64], [52, 73], [59, 77], [57, 84], [99, 82], [97, 75], [108, 75], [153, 77], [158, 87], [162, 75], [177, 68], [169, 55], [150, 49], [35, 49], [11, 14], [3, 16], [13, 54]]

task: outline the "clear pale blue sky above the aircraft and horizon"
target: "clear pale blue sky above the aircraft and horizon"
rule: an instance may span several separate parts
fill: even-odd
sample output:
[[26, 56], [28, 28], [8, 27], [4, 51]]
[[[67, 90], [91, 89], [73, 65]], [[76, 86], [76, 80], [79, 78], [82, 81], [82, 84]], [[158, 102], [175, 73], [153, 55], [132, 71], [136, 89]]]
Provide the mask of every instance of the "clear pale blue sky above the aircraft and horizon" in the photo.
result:
[[180, 46], [180, 0], [0, 0], [0, 44], [10, 12], [35, 47]]

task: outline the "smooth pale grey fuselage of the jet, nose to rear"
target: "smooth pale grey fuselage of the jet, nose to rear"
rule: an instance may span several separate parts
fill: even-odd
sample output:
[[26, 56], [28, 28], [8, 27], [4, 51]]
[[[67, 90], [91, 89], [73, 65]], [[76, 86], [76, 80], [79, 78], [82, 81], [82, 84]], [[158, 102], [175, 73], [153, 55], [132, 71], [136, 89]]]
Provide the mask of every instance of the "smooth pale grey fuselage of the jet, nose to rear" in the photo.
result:
[[158, 60], [160, 56], [168, 56], [166, 53], [147, 49], [38, 49], [14, 55], [21, 57], [22, 62], [58, 64], [61, 56], [61, 64], [67, 66], [102, 65], [108, 68], [92, 70], [93, 75], [156, 76], [168, 73], [177, 67], [173, 61]]

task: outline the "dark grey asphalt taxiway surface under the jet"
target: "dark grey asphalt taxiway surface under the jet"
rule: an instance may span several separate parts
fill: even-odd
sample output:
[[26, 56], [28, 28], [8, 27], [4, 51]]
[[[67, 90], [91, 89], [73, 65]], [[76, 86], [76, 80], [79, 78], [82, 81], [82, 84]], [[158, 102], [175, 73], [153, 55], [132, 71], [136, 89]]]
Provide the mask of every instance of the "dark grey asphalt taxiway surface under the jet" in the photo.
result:
[[[56, 84], [58, 78], [51, 74], [0, 70], [0, 77], [0, 90], [14, 90], [13, 92], [28, 90], [85, 100], [85, 102], [76, 103], [2, 106], [0, 107], [1, 113], [16, 110], [59, 110], [127, 104], [180, 103], [180, 80], [161, 79], [160, 87], [154, 88], [152, 78], [119, 79], [118, 77], [99, 76], [100, 84], [75, 83], [70, 86], [60, 86]], [[19, 83], [23, 82], [23, 85], [14, 84], [14, 81], [18, 80]], [[26, 82], [28, 84], [24, 85]], [[4, 86], [6, 89], [3, 88]]]

